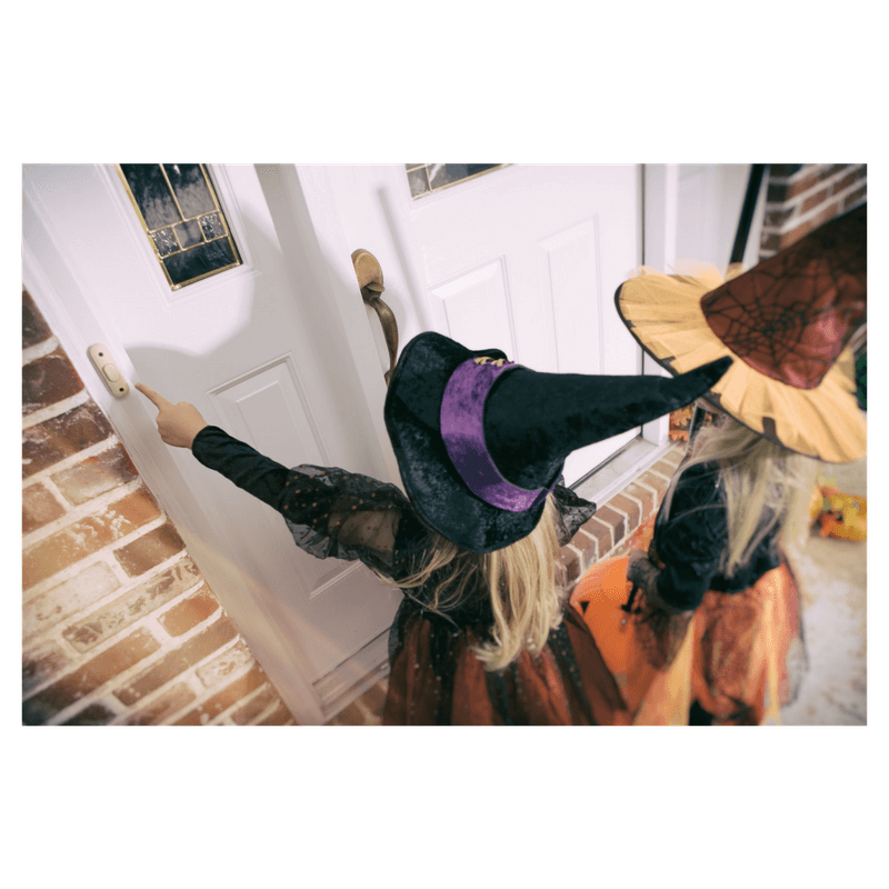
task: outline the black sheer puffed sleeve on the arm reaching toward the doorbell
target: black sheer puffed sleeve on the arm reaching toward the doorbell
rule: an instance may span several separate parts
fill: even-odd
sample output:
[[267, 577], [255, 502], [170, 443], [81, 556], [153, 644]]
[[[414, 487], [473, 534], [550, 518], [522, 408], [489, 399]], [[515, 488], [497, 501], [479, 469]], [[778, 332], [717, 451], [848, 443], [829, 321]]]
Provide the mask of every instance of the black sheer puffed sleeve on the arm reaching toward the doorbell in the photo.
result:
[[360, 559], [388, 577], [408, 572], [424, 532], [394, 486], [333, 467], [288, 469], [218, 427], [202, 429], [194, 457], [287, 521], [293, 541], [319, 559]]

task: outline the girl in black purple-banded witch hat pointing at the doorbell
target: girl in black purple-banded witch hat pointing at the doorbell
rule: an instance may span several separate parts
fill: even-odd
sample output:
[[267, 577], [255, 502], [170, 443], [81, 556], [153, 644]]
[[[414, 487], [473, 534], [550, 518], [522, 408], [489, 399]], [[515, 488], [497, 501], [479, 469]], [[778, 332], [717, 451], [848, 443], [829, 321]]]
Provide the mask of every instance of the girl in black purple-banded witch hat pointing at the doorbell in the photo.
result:
[[612, 726], [629, 716], [557, 587], [559, 547], [596, 510], [566, 457], [691, 403], [726, 358], [673, 380], [539, 373], [421, 333], [384, 419], [407, 497], [341, 469], [288, 469], [141, 383], [161, 438], [280, 511], [318, 558], [360, 559], [404, 593], [386, 726]]

